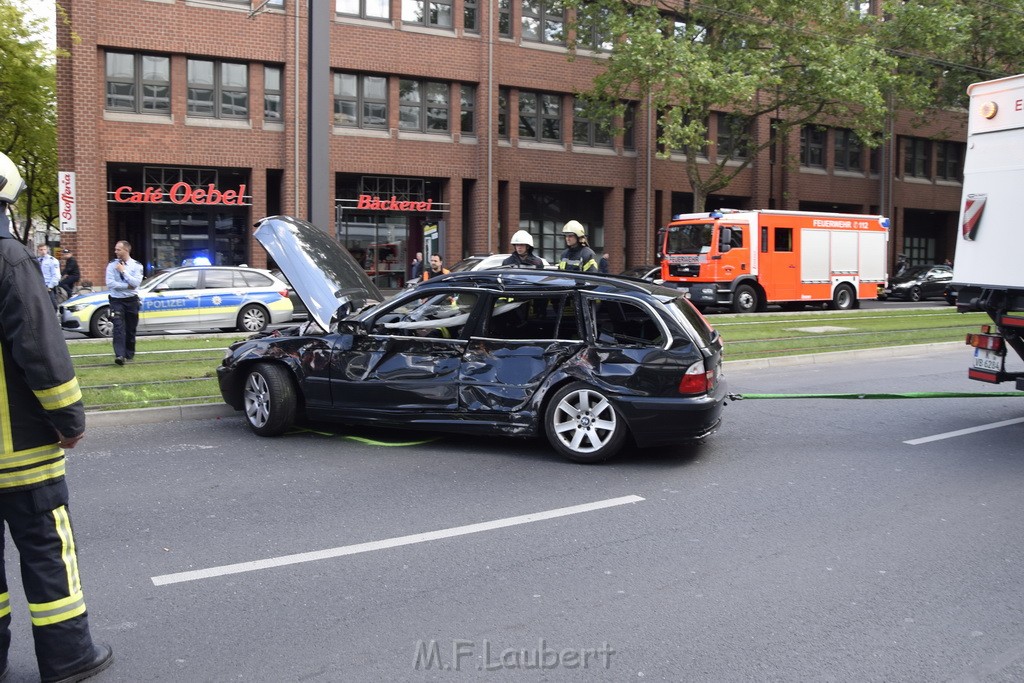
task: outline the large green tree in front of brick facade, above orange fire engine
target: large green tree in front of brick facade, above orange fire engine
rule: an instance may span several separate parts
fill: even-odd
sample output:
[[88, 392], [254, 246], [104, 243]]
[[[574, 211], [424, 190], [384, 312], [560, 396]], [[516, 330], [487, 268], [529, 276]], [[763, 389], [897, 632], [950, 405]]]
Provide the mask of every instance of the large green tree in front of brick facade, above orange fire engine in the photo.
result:
[[[607, 68], [582, 93], [589, 113], [610, 120], [626, 100], [649, 101], [659, 155], [685, 155], [694, 211], [805, 124], [842, 122], [877, 144], [887, 94], [899, 87], [897, 59], [879, 43], [876, 17], [850, 3], [571, 1], [575, 28], [602, 25], [603, 35], [617, 37]], [[725, 148], [706, 160], [710, 117], [719, 113]], [[764, 117], [771, 134], [754, 125]]]

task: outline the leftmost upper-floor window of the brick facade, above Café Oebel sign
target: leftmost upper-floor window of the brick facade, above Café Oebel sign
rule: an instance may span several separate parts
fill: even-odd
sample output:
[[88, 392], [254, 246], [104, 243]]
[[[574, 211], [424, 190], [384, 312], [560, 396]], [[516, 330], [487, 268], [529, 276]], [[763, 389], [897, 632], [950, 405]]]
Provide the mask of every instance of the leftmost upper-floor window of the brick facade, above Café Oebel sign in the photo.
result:
[[135, 114], [170, 114], [170, 57], [108, 52], [106, 109]]

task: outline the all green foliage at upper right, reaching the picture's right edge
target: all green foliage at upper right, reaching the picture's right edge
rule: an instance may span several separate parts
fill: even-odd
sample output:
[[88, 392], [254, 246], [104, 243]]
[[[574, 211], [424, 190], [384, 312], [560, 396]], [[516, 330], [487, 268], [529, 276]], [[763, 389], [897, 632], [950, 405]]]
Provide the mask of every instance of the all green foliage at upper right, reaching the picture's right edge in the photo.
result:
[[[893, 106], [927, 116], [963, 105], [966, 83], [1014, 73], [1024, 52], [1013, 39], [1024, 13], [992, 35], [1000, 12], [985, 0], [889, 0], [880, 15], [839, 1], [568, 1], [578, 36], [600, 26], [613, 44], [581, 93], [588, 114], [612, 120], [628, 100], [649, 102], [659, 156], [685, 155], [694, 211], [776, 137], [817, 123], [876, 146]], [[728, 115], [731, 148], [706, 160], [718, 113]], [[753, 125], [765, 117], [772, 134]]]

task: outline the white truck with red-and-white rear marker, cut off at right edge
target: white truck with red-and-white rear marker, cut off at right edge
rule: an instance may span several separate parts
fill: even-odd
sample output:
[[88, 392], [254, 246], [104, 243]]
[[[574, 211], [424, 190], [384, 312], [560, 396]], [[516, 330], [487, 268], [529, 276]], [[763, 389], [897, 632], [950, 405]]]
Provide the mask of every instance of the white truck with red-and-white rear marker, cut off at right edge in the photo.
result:
[[1024, 372], [1007, 370], [1008, 351], [1024, 359], [1024, 75], [975, 83], [968, 94], [953, 283], [957, 310], [984, 311], [993, 323], [967, 336], [968, 376], [1024, 390]]

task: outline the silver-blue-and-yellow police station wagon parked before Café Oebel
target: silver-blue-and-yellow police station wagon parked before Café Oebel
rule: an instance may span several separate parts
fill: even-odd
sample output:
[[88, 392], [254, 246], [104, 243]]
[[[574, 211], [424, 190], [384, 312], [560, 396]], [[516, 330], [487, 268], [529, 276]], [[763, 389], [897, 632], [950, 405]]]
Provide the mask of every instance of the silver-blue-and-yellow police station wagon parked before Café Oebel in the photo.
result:
[[[110, 337], [108, 291], [76, 296], [60, 306], [66, 330]], [[229, 266], [172, 268], [142, 282], [138, 331], [222, 329], [260, 332], [292, 319], [288, 285], [269, 270]]]

